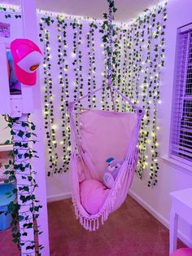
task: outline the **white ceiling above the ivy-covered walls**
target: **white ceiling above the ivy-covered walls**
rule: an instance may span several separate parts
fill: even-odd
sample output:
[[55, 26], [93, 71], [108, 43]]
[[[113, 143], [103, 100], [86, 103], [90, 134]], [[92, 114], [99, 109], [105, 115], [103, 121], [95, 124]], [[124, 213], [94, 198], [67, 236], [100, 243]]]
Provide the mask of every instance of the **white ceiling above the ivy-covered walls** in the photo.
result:
[[[129, 21], [136, 18], [147, 7], [158, 3], [159, 0], [115, 0], [115, 2], [118, 9], [116, 21]], [[0, 3], [18, 5], [20, 0], [0, 0]], [[37, 0], [37, 8], [102, 19], [103, 12], [107, 12], [107, 0]]]

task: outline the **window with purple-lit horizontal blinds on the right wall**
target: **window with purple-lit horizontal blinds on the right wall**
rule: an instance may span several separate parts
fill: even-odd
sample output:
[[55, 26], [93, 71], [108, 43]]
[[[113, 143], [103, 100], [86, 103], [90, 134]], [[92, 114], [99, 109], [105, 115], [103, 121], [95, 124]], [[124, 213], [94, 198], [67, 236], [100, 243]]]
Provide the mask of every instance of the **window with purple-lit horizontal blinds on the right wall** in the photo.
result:
[[192, 24], [177, 31], [170, 157], [192, 166]]

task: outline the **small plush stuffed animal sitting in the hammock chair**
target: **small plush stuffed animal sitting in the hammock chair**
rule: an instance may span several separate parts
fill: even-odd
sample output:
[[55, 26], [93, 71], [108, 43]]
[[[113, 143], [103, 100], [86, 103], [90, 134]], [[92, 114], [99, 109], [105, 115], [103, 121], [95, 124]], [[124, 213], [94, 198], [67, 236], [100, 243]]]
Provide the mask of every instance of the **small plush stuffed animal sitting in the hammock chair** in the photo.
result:
[[110, 157], [107, 159], [108, 167], [103, 176], [104, 183], [107, 188], [112, 188], [113, 184], [115, 183], [116, 176], [120, 171], [120, 167], [123, 161], [117, 161], [115, 158]]

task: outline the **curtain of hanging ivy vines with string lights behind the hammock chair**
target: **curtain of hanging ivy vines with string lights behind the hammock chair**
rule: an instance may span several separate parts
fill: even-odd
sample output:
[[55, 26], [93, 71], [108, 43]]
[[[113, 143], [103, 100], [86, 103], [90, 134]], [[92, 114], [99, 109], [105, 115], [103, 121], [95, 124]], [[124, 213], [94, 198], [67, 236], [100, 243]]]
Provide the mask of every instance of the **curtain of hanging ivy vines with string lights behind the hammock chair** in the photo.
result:
[[[108, 0], [111, 8], [115, 8], [114, 1]], [[146, 109], [146, 116], [142, 121], [142, 130], [140, 132], [139, 144], [140, 157], [137, 165], [137, 174], [142, 178], [143, 171], [150, 170], [150, 179], [148, 186], [154, 186], [157, 182], [158, 166], [158, 141], [157, 130], [159, 129], [156, 123], [156, 112], [159, 99], [159, 77], [161, 68], [164, 67], [164, 29], [165, 22], [167, 20], [167, 2], [157, 5], [151, 10], [146, 10], [143, 15], [139, 16], [132, 24], [128, 26], [125, 24], [113, 23], [113, 42], [112, 46], [114, 51], [112, 52], [113, 60], [113, 82], [114, 84], [124, 92], [126, 96], [133, 100], [134, 103], [142, 105]], [[3, 7], [4, 8], [4, 7]], [[14, 17], [19, 13], [18, 10], [11, 11], [7, 9], [1, 9], [5, 14], [10, 14]], [[116, 9], [114, 10], [116, 11]], [[41, 14], [40, 14], [41, 15]], [[7, 17], [7, 18], [10, 18]], [[18, 18], [15, 17], [15, 18]], [[44, 84], [46, 90], [43, 92], [45, 99], [45, 126], [48, 145], [48, 154], [50, 161], [50, 170], [48, 174], [56, 174], [62, 171], [68, 170], [68, 162], [70, 157], [70, 129], [68, 126], [68, 114], [66, 113], [66, 104], [68, 99], [79, 97], [82, 95], [82, 91], [85, 86], [88, 86], [89, 91], [94, 89], [96, 81], [103, 80], [103, 84], [107, 82], [107, 54], [108, 48], [108, 24], [107, 14], [104, 15], [104, 23], [101, 24], [98, 20], [89, 20], [87, 18], [80, 18], [74, 16], [62, 16], [59, 15], [59, 19], [53, 15], [43, 15], [40, 23], [40, 40], [45, 44], [45, 58], [44, 67]], [[65, 21], [64, 21], [65, 20]], [[68, 20], [68, 22], [66, 21]], [[89, 33], [87, 40], [88, 48], [88, 63], [89, 71], [87, 76], [87, 82], [83, 78], [85, 76], [85, 69], [82, 64], [82, 56], [84, 55], [84, 48], [82, 47], [82, 40], [85, 37], [82, 30], [82, 22], [89, 24]], [[50, 29], [53, 25], [58, 25], [58, 53], [56, 62], [59, 62], [59, 84], [60, 84], [60, 106], [61, 113], [61, 132], [62, 140], [58, 142], [56, 134], [60, 132], [59, 129], [55, 129], [55, 100], [51, 99], [53, 93], [52, 77], [51, 77], [51, 62], [50, 62]], [[70, 25], [71, 24], [71, 25]], [[73, 65], [69, 63], [69, 56], [71, 52], [68, 52], [68, 40], [67, 27], [71, 27], [73, 37], [73, 51], [74, 57], [72, 59]], [[98, 44], [95, 44], [95, 33], [101, 31], [103, 35], [103, 60], [105, 65], [102, 73], [98, 73], [98, 68], [95, 59], [95, 50]], [[102, 42], [101, 42], [102, 43]], [[85, 45], [84, 45], [85, 46]], [[48, 48], [48, 49], [47, 49]], [[52, 60], [53, 61], [53, 60]], [[63, 64], [64, 63], [64, 64]], [[75, 74], [74, 93], [71, 93], [69, 86], [71, 85], [69, 73]], [[51, 88], [52, 87], [52, 88]], [[47, 102], [50, 101], [49, 103]], [[103, 90], [101, 99], [96, 101], [96, 96], [89, 99], [89, 106], [103, 108], [109, 110], [111, 108], [111, 100], [109, 98], [109, 90]], [[116, 98], [116, 107], [119, 111], [127, 111], [128, 105], [125, 105], [120, 101], [120, 98]], [[57, 124], [58, 126], [58, 124]], [[56, 141], [56, 143], [55, 143]], [[54, 142], [54, 143], [53, 143]], [[59, 167], [58, 152], [59, 143], [63, 148], [63, 166]]]

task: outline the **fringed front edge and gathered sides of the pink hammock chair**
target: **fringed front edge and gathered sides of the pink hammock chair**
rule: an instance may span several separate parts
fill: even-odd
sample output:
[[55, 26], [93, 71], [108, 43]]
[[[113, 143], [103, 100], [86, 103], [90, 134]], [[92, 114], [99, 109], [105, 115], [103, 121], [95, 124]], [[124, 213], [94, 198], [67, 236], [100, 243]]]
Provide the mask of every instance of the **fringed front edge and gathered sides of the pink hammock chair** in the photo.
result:
[[[85, 227], [85, 229], [88, 231], [95, 231], [100, 226], [100, 221], [103, 224], [107, 220], [108, 215], [113, 210], [114, 205], [116, 205], [116, 200], [117, 200], [118, 192], [120, 191], [120, 189], [123, 189], [122, 187], [125, 186], [126, 189], [124, 188], [124, 190], [126, 191], [129, 189], [129, 186], [132, 183], [133, 173], [134, 173], [135, 166], [137, 164], [137, 157], [138, 157], [138, 152], [136, 147], [137, 137], [138, 137], [138, 132], [140, 129], [143, 113], [139, 115], [139, 118], [137, 119], [137, 123], [133, 132], [133, 139], [131, 140], [131, 143], [129, 143], [129, 147], [127, 148], [127, 152], [124, 157], [124, 163], [121, 166], [120, 172], [116, 177], [116, 181], [114, 183], [113, 188], [111, 189], [111, 191], [109, 192], [109, 195], [107, 196], [107, 200], [104, 202], [103, 207], [101, 208], [101, 210], [99, 210], [97, 214], [91, 215], [85, 212], [84, 209], [82, 209], [81, 199], [79, 197], [80, 188], [79, 188], [79, 181], [78, 181], [76, 166], [77, 166], [78, 159], [84, 160], [84, 151], [81, 148], [80, 138], [76, 130], [76, 123], [72, 113], [73, 106], [74, 104], [71, 105], [71, 108], [69, 110], [71, 127], [72, 127], [72, 159], [71, 159], [71, 168], [72, 168], [71, 175], [73, 180], [72, 203], [75, 208], [76, 218], [80, 219], [81, 225]], [[77, 151], [76, 151], [76, 148], [77, 148]], [[76, 155], [78, 157], [76, 157]], [[75, 183], [74, 181], [77, 181], [77, 182]]]

